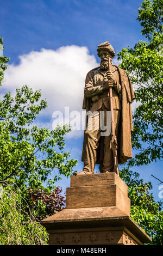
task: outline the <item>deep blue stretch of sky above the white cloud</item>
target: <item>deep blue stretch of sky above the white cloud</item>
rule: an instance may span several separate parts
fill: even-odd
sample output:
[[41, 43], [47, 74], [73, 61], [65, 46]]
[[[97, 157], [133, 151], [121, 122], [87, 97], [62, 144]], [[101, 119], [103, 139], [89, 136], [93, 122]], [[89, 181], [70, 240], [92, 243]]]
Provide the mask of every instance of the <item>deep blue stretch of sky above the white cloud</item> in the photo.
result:
[[116, 52], [142, 39], [136, 21], [140, 0], [7, 0], [1, 3], [0, 32], [5, 53], [17, 56], [40, 48], [87, 46], [96, 54], [101, 41]]

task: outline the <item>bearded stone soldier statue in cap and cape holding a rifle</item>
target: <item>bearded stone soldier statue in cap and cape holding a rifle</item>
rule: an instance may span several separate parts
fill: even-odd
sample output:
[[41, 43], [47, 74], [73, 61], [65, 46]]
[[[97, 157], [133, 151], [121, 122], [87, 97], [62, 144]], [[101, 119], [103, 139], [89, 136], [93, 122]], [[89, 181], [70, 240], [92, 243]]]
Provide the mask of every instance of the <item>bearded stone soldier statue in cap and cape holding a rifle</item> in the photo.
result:
[[82, 153], [84, 168], [75, 175], [94, 173], [96, 163], [101, 173], [118, 174], [118, 164], [132, 157], [132, 84], [123, 69], [112, 65], [115, 51], [108, 41], [98, 45], [97, 52], [100, 66], [87, 73], [84, 88], [83, 109], [87, 117]]

